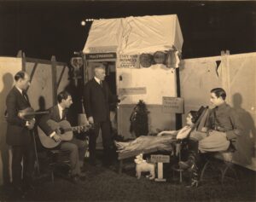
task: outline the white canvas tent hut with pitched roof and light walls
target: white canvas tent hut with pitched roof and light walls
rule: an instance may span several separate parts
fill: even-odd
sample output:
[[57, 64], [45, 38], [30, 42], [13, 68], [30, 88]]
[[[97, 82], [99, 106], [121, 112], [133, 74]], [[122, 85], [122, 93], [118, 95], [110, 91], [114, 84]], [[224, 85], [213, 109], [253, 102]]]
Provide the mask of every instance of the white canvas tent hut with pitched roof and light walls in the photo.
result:
[[[162, 104], [164, 96], [177, 96], [173, 68], [178, 67], [182, 46], [183, 35], [176, 14], [95, 20], [92, 23], [83, 50], [87, 71], [90, 74], [94, 62], [114, 62], [117, 91], [124, 90], [127, 95], [118, 109], [119, 134], [131, 136], [129, 117], [139, 100], [145, 101], [150, 111], [149, 132], [175, 127], [175, 113], [163, 112]], [[175, 52], [173, 68], [167, 67], [167, 63], [142, 66], [140, 55], [168, 51]], [[164, 88], [160, 89], [160, 85]]]

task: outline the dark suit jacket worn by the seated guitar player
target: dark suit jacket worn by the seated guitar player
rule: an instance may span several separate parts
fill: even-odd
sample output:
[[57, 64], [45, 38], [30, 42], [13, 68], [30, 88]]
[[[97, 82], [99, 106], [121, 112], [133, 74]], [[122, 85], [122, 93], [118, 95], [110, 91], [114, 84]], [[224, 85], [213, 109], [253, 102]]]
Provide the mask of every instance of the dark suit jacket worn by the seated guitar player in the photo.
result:
[[60, 122], [63, 119], [67, 118], [67, 110], [64, 111], [62, 114], [62, 118], [60, 117], [60, 111], [58, 105], [55, 105], [54, 107], [49, 108], [49, 113], [44, 115], [40, 120], [39, 120], [39, 126], [40, 128], [44, 131], [44, 133], [49, 136], [54, 130], [52, 130], [49, 125], [47, 124], [47, 121], [49, 119], [54, 120], [55, 122]]

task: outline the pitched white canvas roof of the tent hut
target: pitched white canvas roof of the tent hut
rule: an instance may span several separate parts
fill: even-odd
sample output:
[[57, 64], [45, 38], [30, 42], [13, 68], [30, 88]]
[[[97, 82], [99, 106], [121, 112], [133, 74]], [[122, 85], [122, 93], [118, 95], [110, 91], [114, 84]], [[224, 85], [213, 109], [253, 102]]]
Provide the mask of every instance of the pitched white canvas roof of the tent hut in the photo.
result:
[[142, 54], [172, 49], [181, 52], [183, 35], [176, 14], [95, 20], [84, 54]]

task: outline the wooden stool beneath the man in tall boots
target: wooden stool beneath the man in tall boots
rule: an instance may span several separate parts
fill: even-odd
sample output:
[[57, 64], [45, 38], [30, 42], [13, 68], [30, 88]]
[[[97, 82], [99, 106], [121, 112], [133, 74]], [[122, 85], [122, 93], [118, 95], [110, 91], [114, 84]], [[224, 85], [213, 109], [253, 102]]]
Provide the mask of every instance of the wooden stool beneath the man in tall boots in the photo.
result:
[[222, 152], [214, 152], [214, 153], [206, 153], [207, 155], [207, 162], [203, 165], [203, 168], [201, 170], [201, 176], [200, 181], [203, 180], [205, 171], [213, 165], [217, 160], [218, 163], [220, 162], [219, 159], [223, 160], [222, 165], [223, 168], [221, 168], [219, 165], [215, 166], [215, 168], [218, 168], [218, 170], [221, 171], [221, 183], [224, 184], [224, 177], [226, 176], [226, 173], [228, 170], [231, 170], [236, 178], [236, 181], [238, 181], [238, 177], [236, 174], [236, 170], [233, 168], [233, 153], [236, 152], [236, 149], [234, 147], [229, 147], [228, 150], [222, 151]]

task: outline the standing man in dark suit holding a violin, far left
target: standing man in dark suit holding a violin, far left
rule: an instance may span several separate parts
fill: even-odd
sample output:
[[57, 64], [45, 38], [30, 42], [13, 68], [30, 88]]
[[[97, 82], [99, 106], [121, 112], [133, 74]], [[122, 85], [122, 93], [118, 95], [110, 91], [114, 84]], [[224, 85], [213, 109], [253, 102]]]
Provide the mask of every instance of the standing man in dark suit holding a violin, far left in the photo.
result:
[[[12, 148], [12, 176], [15, 193], [23, 194], [27, 188], [32, 188], [32, 173], [34, 169], [34, 147], [31, 130], [35, 120], [20, 118], [20, 110], [31, 107], [26, 89], [30, 85], [30, 76], [26, 72], [15, 74], [15, 86], [6, 98], [7, 107], [7, 137], [6, 142]], [[23, 175], [21, 161], [23, 159]], [[23, 176], [23, 183], [21, 181]]]

